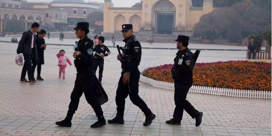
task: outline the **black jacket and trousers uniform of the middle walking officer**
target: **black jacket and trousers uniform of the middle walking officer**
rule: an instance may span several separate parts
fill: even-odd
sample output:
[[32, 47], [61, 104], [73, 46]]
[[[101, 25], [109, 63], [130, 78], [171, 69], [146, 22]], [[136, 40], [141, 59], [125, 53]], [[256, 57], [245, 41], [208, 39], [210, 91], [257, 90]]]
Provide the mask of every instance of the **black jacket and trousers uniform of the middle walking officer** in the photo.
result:
[[122, 55], [122, 62], [123, 66], [125, 68], [125, 72], [130, 73], [129, 77], [129, 86], [131, 92], [128, 90], [128, 85], [123, 83], [123, 75], [124, 73], [121, 73], [121, 77], [118, 82], [118, 88], [116, 91], [116, 98], [115, 102], [117, 105], [117, 112], [124, 115], [125, 110], [125, 99], [128, 97], [131, 100], [131, 102], [138, 106], [142, 112], [150, 113], [151, 110], [147, 107], [146, 103], [140, 98], [138, 95], [139, 92], [139, 79], [140, 79], [140, 71], [138, 69], [138, 65], [141, 62], [141, 44], [138, 40], [136, 40], [136, 37], [132, 35], [128, 39], [123, 40], [125, 42], [125, 47]]

